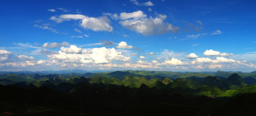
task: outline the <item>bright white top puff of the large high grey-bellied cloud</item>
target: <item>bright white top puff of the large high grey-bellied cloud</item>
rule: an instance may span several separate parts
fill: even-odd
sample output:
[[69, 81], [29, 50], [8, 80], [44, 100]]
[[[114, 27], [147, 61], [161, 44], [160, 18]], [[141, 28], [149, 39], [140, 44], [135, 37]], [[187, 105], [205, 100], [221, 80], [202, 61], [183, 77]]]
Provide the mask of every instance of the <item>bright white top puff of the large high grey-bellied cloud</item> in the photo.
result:
[[133, 18], [133, 19], [140, 19], [140, 18], [144, 18], [144, 17], [147, 17], [146, 14], [143, 14], [142, 11], [135, 11], [133, 13], [120, 13], [120, 19], [121, 20], [125, 20], [125, 19], [130, 19], [130, 18]]

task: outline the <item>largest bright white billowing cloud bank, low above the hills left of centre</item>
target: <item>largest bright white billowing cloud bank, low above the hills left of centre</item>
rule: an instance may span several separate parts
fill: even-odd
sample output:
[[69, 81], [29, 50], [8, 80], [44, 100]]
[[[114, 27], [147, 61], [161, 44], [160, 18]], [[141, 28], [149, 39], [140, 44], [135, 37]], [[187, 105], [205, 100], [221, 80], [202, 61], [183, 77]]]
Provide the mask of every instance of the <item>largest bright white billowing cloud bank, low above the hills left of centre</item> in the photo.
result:
[[130, 57], [125, 57], [124, 55], [122, 55], [121, 52], [117, 52], [114, 48], [112, 49], [110, 48], [107, 49], [105, 47], [92, 48], [92, 49], [83, 50], [81, 52], [82, 54], [78, 54], [79, 50], [80, 49], [77, 48], [76, 46], [73, 46], [73, 47], [70, 46], [70, 48], [65, 48], [64, 52], [62, 52], [61, 50], [59, 51], [59, 54], [51, 54], [51, 55], [47, 55], [47, 57], [56, 63], [98, 64], [98, 63], [110, 63], [112, 62], [112, 60], [131, 61]]

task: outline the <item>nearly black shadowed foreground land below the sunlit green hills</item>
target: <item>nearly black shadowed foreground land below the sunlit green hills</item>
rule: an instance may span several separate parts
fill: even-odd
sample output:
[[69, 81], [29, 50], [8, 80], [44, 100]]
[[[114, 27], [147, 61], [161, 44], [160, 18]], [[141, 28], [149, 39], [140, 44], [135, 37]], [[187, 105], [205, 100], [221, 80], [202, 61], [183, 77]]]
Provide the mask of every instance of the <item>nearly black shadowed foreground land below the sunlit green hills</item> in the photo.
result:
[[[177, 81], [180, 83], [181, 81]], [[156, 85], [164, 86], [162, 82]], [[183, 83], [184, 84], [184, 83]], [[72, 84], [62, 83], [60, 87]], [[177, 85], [177, 84], [176, 84]], [[165, 85], [167, 86], [167, 85]], [[58, 87], [58, 86], [57, 86]], [[209, 86], [202, 85], [200, 88]], [[232, 99], [192, 97], [176, 90], [163, 92], [156, 87], [141, 84], [139, 88], [118, 85], [89, 84], [77, 85], [73, 92], [63, 94], [52, 89], [39, 87], [26, 90], [14, 86], [0, 85], [0, 114], [59, 116], [59, 115], [169, 115], [172, 116], [239, 116], [253, 115], [255, 93], [243, 94]], [[161, 89], [161, 88], [160, 88]], [[203, 89], [205, 90], [205, 89]], [[25, 105], [27, 103], [27, 105]], [[29, 110], [28, 110], [29, 109]]]

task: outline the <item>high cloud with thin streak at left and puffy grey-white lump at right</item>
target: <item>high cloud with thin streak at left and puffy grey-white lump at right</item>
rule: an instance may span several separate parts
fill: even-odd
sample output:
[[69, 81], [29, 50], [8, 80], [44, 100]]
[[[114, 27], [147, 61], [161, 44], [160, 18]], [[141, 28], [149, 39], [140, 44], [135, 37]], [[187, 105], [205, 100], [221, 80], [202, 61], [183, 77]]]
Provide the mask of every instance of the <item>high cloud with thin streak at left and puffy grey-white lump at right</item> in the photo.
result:
[[71, 19], [81, 20], [80, 26], [84, 29], [107, 32], [111, 32], [113, 30], [112, 26], [110, 26], [110, 19], [108, 19], [107, 16], [88, 17], [82, 14], [62, 14], [58, 17], [52, 16], [50, 18], [50, 20], [53, 20], [56, 23], [62, 23], [63, 21], [69, 21]]

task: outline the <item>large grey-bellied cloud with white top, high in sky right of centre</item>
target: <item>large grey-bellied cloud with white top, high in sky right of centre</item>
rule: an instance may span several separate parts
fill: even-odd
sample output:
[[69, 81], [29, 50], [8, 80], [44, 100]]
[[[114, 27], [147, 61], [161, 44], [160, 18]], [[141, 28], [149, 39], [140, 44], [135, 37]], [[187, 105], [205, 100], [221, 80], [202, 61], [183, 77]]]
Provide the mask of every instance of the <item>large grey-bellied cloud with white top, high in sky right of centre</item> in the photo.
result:
[[175, 33], [179, 30], [179, 27], [164, 22], [166, 15], [159, 14], [156, 18], [145, 18], [147, 15], [143, 14], [142, 11], [121, 13], [120, 15], [121, 19], [124, 20], [119, 22], [122, 26], [146, 36], [164, 34], [169, 31]]

